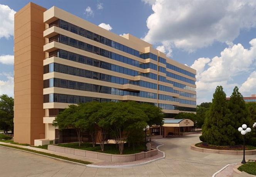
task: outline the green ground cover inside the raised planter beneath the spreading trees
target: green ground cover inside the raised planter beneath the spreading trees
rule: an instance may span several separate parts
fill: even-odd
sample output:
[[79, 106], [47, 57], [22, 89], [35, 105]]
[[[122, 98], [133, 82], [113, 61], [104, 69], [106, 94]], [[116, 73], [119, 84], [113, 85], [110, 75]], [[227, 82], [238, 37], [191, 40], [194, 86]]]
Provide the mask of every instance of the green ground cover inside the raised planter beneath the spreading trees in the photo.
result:
[[[96, 144], [95, 147], [93, 147], [91, 143], [82, 143], [80, 147], [78, 143], [58, 144], [58, 146], [69, 147], [74, 149], [91, 150], [96, 152], [104, 152], [107, 154], [120, 154], [118, 146], [116, 146], [116, 144], [104, 144], [104, 151], [101, 151], [101, 147], [99, 144]], [[139, 145], [136, 146], [135, 151], [133, 151], [132, 145], [128, 147], [128, 144], [125, 144], [123, 154], [135, 154], [143, 151], [144, 149], [144, 145]]]

